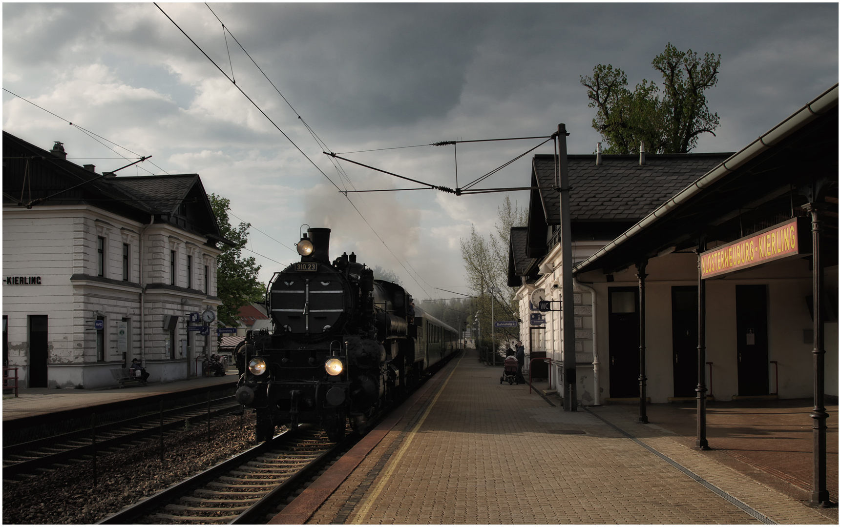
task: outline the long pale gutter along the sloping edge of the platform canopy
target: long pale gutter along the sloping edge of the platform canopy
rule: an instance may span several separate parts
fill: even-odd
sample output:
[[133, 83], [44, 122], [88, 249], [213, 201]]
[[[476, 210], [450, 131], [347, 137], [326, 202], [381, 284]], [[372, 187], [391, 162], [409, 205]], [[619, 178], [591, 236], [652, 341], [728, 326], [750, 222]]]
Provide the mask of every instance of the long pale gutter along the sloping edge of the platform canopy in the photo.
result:
[[807, 103], [796, 113], [793, 113], [788, 117], [788, 119], [785, 119], [774, 128], [760, 135], [759, 139], [754, 140], [754, 142], [750, 145], [745, 146], [742, 150], [739, 150], [735, 154], [731, 155], [727, 158], [727, 160], [722, 161], [722, 163], [707, 172], [704, 176], [698, 178], [698, 180], [692, 183], [689, 187], [686, 187], [682, 191], [678, 192], [673, 198], [670, 198], [666, 203], [663, 203], [655, 209], [653, 213], [648, 214], [648, 216], [641, 219], [631, 229], [627, 229], [624, 233], [619, 235], [616, 240], [611, 241], [611, 243], [598, 250], [595, 255], [590, 256], [590, 258], [575, 266], [573, 268], [573, 272], [578, 273], [583, 271], [585, 267], [594, 264], [595, 261], [599, 260], [602, 256], [605, 256], [617, 246], [631, 239], [643, 230], [650, 228], [653, 224], [657, 223], [659, 219], [668, 215], [672, 209], [686, 203], [691, 198], [695, 198], [696, 195], [701, 193], [701, 191], [703, 191], [706, 187], [718, 182], [730, 172], [736, 171], [740, 166], [743, 166], [745, 163], [751, 161], [764, 151], [770, 150], [781, 140], [784, 140], [786, 137], [796, 132], [796, 130], [801, 129], [806, 124], [811, 123], [813, 120], [817, 119], [817, 117], [823, 113], [827, 113], [836, 106], [838, 106], [838, 82], [836, 82], [835, 85], [830, 87], [826, 92], [823, 92], [812, 99], [812, 101]]

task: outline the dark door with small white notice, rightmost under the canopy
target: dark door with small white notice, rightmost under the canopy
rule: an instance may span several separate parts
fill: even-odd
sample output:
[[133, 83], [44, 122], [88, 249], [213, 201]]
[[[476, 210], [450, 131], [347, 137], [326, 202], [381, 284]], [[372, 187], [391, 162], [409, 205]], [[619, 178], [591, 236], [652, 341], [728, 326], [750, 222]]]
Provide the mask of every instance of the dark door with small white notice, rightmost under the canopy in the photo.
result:
[[767, 287], [736, 286], [738, 394], [768, 395]]

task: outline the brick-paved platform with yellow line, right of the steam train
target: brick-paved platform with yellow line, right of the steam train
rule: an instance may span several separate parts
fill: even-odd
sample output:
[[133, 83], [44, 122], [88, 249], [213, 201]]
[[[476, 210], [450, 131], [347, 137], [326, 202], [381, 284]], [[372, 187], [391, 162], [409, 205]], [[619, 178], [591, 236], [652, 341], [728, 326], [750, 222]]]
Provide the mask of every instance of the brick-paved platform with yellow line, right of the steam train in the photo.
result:
[[662, 428], [633, 423], [624, 409], [566, 413], [527, 386], [500, 386], [500, 370], [475, 350], [444, 374], [307, 523], [837, 523]]

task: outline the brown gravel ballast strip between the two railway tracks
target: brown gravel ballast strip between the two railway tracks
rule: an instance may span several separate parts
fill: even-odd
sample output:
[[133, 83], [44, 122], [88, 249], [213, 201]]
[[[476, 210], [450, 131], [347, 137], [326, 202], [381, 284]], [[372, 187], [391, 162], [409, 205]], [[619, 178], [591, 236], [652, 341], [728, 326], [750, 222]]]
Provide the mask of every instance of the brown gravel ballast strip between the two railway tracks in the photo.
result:
[[3, 484], [3, 524], [92, 524], [255, 445], [254, 415], [226, 415], [164, 436], [164, 464], [156, 439], [123, 451]]

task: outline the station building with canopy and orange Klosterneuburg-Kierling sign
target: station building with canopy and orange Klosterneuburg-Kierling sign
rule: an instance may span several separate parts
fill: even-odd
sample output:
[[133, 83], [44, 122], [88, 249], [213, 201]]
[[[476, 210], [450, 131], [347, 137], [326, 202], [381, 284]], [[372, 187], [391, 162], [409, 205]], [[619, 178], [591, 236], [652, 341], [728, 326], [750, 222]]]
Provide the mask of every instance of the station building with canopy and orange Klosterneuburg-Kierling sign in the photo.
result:
[[[532, 190], [528, 226], [511, 229], [508, 284], [520, 287], [521, 340], [553, 358], [560, 379], [553, 159], [533, 159], [531, 186], [548, 189]], [[824, 393], [837, 403], [837, 85], [733, 155], [568, 155], [565, 162], [579, 403], [639, 400], [641, 312], [647, 397], [696, 398], [699, 272], [707, 397], [811, 397], [812, 208], [822, 222]], [[553, 301], [551, 311], [537, 310], [540, 298]], [[538, 324], [530, 328], [532, 317]]]

